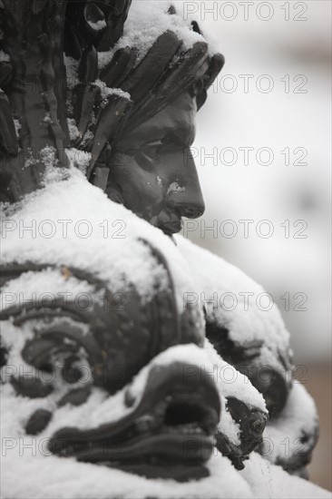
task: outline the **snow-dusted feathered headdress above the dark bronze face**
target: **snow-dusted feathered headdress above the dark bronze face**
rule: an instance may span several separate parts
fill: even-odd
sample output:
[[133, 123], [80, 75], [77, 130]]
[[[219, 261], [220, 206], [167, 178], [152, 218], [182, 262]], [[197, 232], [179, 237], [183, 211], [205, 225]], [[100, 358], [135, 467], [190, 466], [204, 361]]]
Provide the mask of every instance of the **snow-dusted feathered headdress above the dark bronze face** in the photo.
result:
[[[169, 5], [144, 12], [134, 3], [123, 33], [131, 3], [0, 0], [1, 201], [43, 185], [45, 171], [68, 166], [71, 149], [86, 153], [84, 172], [104, 189], [123, 126], [183, 92], [205, 102], [222, 55], [209, 54], [198, 24]], [[146, 17], [141, 30], [136, 15]]]

